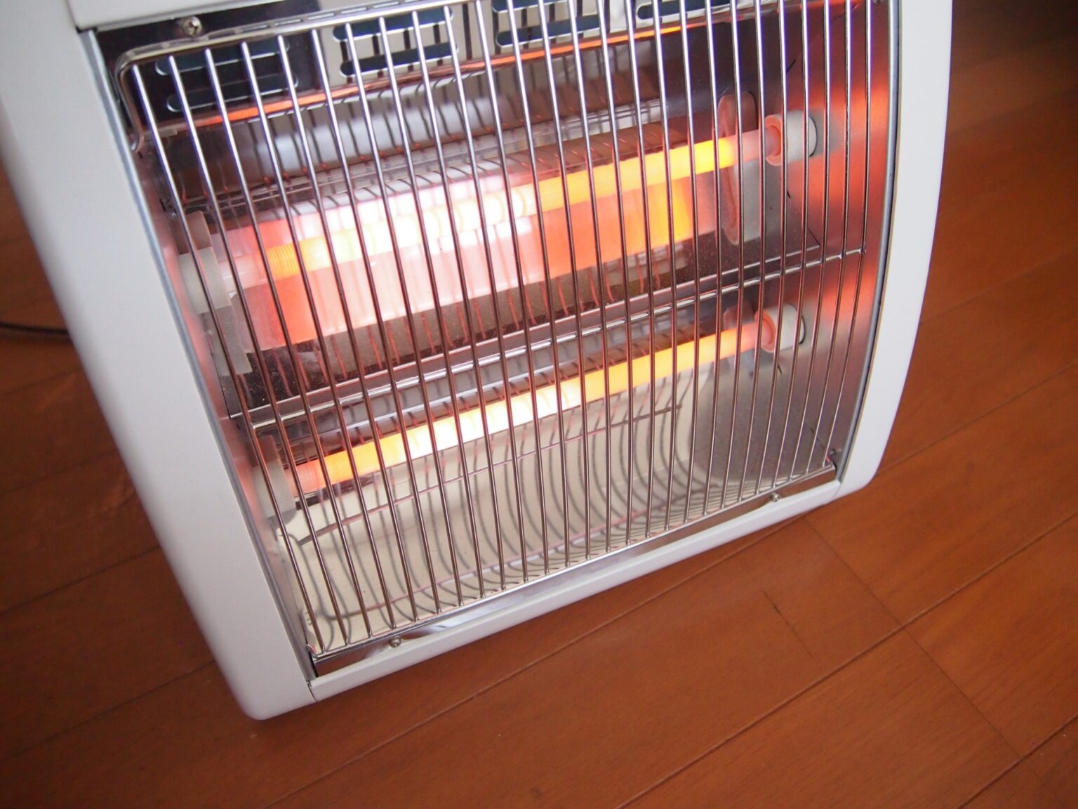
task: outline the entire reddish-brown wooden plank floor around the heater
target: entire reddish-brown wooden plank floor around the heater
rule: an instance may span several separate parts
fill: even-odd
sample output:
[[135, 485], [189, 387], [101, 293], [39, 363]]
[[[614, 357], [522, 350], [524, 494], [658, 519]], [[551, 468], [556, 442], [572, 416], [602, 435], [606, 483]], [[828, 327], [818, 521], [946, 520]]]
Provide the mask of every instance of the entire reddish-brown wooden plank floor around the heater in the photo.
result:
[[[0, 340], [0, 806], [1078, 809], [1076, 23], [957, 2], [928, 297], [866, 490], [270, 722], [72, 349]], [[0, 317], [58, 319], [0, 194]]]

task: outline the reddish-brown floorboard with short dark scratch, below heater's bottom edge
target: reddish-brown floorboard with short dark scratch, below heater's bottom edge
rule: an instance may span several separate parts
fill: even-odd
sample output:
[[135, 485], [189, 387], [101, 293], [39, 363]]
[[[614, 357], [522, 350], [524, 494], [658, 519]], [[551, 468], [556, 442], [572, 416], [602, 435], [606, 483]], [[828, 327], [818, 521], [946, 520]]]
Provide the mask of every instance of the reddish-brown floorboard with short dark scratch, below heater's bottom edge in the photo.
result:
[[893, 627], [798, 522], [281, 806], [619, 806]]

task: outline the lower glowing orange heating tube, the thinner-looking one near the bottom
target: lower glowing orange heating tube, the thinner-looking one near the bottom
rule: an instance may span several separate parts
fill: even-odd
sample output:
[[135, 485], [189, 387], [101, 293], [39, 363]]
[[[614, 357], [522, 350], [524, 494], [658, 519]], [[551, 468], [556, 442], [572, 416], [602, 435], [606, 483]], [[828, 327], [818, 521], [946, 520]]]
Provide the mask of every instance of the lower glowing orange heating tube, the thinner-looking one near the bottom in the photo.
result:
[[[757, 331], [755, 319], [749, 320], [741, 327], [741, 349], [742, 352], [752, 351], [757, 345], [766, 352], [775, 352], [777, 348], [788, 348], [801, 340], [804, 325], [798, 317], [797, 310], [789, 304], [783, 307], [783, 333], [778, 334], [777, 328], [778, 308], [765, 308], [761, 313], [760, 328]], [[693, 367], [693, 355], [700, 351], [700, 365], [704, 366], [715, 362], [717, 359], [732, 357], [737, 353], [737, 331], [738, 329], [725, 329], [720, 332], [718, 340], [715, 334], [701, 338], [699, 343], [680, 343], [675, 348], [665, 348], [655, 352], [654, 355], [645, 355], [632, 360], [633, 384], [636, 387], [647, 385], [651, 381], [651, 364], [654, 359], [655, 379], [666, 379], [674, 372], [674, 352], [677, 352], [677, 367], [679, 369], [690, 369]], [[543, 385], [536, 389], [535, 398], [538, 411], [533, 414], [531, 393], [516, 394], [507, 401], [492, 402], [486, 406], [476, 406], [470, 410], [465, 410], [455, 416], [445, 416], [434, 421], [431, 425], [423, 424], [406, 429], [403, 434], [395, 433], [383, 436], [379, 439], [382, 455], [387, 466], [403, 464], [406, 460], [404, 452], [404, 441], [407, 441], [412, 458], [421, 458], [432, 455], [438, 451], [448, 450], [459, 445], [457, 425], [459, 425], [459, 437], [465, 443], [475, 441], [483, 437], [483, 414], [480, 408], [486, 410], [486, 423], [490, 435], [505, 433], [509, 429], [509, 408], [512, 408], [513, 424], [524, 424], [530, 422], [533, 417], [543, 419], [553, 415], [558, 408], [569, 410], [578, 408], [583, 403], [597, 401], [604, 395], [616, 396], [628, 389], [630, 364], [619, 362], [607, 369], [590, 371], [583, 376], [576, 376], [563, 380], [561, 383], [561, 398], [558, 398], [558, 386], [555, 384]], [[606, 386], [604, 386], [604, 375]], [[356, 470], [360, 477], [373, 475], [378, 471], [378, 455], [374, 442], [354, 447], [351, 450], [353, 460], [356, 463]], [[330, 483], [343, 483], [353, 479], [351, 465], [348, 463], [348, 450], [335, 452], [326, 457], [326, 467], [329, 470]], [[317, 461], [308, 461], [301, 464], [299, 472], [300, 483], [305, 493], [320, 491], [326, 488], [324, 478]]]

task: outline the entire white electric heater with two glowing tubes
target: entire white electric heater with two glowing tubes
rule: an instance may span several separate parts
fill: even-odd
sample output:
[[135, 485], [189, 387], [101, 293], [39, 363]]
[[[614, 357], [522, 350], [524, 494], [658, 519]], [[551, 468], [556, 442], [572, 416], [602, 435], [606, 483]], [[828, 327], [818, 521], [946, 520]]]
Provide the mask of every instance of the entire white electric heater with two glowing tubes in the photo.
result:
[[189, 5], [10, 10], [0, 135], [248, 713], [872, 476], [950, 3]]

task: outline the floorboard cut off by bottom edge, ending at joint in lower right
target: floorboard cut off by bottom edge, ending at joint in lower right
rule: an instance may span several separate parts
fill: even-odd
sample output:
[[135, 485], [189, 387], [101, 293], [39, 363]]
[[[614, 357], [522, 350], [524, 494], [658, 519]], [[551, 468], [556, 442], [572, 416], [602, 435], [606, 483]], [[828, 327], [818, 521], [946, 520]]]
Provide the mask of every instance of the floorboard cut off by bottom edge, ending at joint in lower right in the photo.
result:
[[632, 806], [943, 809], [1014, 758], [900, 633]]

